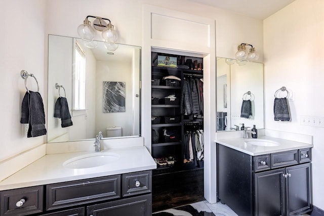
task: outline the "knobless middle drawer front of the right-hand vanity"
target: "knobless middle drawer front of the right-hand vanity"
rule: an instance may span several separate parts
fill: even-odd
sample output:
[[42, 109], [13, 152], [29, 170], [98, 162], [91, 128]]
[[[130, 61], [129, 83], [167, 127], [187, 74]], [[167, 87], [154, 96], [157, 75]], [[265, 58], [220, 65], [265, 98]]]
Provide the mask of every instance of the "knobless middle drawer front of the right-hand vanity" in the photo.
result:
[[271, 154], [271, 168], [298, 164], [298, 150]]

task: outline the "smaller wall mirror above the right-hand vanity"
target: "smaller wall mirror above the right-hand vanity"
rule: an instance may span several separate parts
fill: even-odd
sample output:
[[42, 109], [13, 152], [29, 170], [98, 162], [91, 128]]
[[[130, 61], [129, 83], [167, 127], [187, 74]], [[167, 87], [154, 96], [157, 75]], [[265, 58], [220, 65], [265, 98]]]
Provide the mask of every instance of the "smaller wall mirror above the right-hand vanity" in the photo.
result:
[[[264, 128], [263, 64], [217, 57], [217, 132], [245, 127]], [[251, 101], [251, 115], [241, 117], [243, 100]], [[244, 115], [243, 115], [244, 116]]]

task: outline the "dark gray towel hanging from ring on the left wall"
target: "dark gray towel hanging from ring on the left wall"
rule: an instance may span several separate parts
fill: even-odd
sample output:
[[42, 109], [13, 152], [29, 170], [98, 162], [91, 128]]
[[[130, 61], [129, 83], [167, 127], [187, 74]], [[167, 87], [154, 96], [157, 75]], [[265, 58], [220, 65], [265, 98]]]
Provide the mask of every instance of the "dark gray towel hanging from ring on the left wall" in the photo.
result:
[[[28, 119], [28, 120], [27, 120]], [[41, 94], [26, 92], [21, 106], [21, 123], [28, 123], [27, 137], [38, 137], [47, 134], [45, 112]]]

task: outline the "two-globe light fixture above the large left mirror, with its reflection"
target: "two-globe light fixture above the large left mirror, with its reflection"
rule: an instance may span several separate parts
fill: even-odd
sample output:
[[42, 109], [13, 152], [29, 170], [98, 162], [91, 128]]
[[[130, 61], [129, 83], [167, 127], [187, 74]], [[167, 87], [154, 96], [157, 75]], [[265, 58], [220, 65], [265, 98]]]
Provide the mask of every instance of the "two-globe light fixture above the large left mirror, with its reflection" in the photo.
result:
[[[93, 27], [88, 18], [95, 18], [93, 21]], [[106, 21], [108, 21], [108, 24]], [[101, 31], [101, 36], [105, 41], [105, 47], [109, 51], [115, 51], [118, 48], [116, 41], [118, 39], [118, 34], [114, 30], [113, 25], [110, 20], [102, 17], [87, 16], [83, 24], [77, 27], [78, 35], [85, 41], [85, 46], [88, 48], [97, 47], [97, 41], [93, 41], [96, 35], [96, 31]]]

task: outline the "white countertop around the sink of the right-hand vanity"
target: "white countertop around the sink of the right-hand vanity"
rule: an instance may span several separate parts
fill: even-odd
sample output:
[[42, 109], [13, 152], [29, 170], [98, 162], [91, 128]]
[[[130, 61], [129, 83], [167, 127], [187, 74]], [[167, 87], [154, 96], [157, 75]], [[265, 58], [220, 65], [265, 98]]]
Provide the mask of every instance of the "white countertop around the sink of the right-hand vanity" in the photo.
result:
[[[246, 143], [246, 141], [261, 140], [261, 139], [276, 141], [280, 145], [278, 145], [278, 146], [256, 146], [256, 145], [251, 145], [251, 144]], [[252, 155], [252, 156], [313, 147], [313, 144], [301, 143], [301, 142], [296, 142], [296, 141], [291, 141], [291, 140], [284, 140], [284, 139], [268, 137], [268, 136], [260, 136], [257, 139], [253, 139], [253, 138], [249, 138], [249, 139], [245, 139], [245, 138], [217, 139], [217, 140], [215, 140], [215, 142], [222, 144], [224, 146], [227, 146], [229, 148], [235, 149], [237, 151]]]

